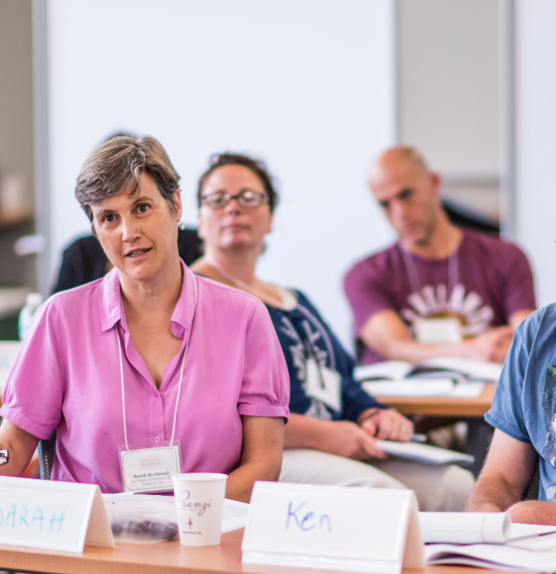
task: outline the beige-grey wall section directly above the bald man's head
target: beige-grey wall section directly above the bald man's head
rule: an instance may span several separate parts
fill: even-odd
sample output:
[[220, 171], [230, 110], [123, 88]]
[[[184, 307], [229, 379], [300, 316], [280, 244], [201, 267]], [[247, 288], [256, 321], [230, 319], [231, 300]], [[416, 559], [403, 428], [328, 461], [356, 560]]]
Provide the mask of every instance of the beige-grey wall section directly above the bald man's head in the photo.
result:
[[434, 169], [498, 174], [498, 0], [398, 0], [400, 139]]

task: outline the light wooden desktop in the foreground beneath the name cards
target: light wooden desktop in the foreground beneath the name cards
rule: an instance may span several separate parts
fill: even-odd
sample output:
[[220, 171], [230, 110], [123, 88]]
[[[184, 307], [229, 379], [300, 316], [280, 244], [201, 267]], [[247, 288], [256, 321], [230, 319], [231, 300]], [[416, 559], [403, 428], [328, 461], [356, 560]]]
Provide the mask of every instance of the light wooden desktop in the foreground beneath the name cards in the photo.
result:
[[[83, 554], [63, 554], [0, 546], [0, 569], [60, 574], [316, 574], [312, 569], [269, 567], [241, 563], [243, 530], [222, 535], [220, 546], [192, 548], [178, 541], [160, 544], [119, 544], [116, 548], [85, 546]], [[404, 569], [404, 574], [493, 574], [495, 571], [459, 566]], [[502, 572], [502, 571], [497, 571]]]

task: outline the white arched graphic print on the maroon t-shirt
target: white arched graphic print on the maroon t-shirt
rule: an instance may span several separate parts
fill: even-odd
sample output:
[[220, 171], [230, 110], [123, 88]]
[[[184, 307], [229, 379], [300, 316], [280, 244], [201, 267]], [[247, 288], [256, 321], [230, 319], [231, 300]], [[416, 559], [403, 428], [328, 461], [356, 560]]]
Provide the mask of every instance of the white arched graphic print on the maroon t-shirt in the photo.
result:
[[457, 284], [448, 297], [448, 287], [427, 285], [408, 296], [410, 308], [402, 308], [400, 315], [413, 329], [418, 319], [459, 319], [461, 335], [475, 336], [487, 331], [494, 318], [490, 305], [483, 305], [483, 299], [475, 291], [465, 293], [464, 285]]

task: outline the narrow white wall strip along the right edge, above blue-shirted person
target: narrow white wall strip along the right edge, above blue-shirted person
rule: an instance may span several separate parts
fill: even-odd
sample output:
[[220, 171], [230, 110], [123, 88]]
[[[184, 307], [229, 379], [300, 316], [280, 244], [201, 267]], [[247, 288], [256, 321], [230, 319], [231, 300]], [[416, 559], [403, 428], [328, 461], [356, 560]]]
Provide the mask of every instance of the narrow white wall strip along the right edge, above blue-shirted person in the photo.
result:
[[539, 307], [556, 301], [555, 26], [553, 0], [516, 2], [516, 231]]

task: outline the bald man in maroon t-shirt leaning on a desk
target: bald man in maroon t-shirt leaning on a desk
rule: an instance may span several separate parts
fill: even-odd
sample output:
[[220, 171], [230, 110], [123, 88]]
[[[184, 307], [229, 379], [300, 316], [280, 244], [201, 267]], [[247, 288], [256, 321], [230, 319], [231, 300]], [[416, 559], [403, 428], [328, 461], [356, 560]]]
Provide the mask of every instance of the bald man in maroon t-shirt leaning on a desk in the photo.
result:
[[438, 356], [502, 363], [515, 328], [535, 309], [525, 255], [449, 222], [440, 176], [413, 148], [379, 156], [369, 185], [398, 241], [344, 280], [362, 363]]

